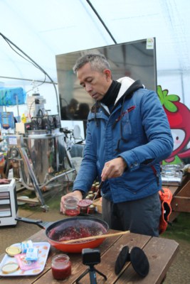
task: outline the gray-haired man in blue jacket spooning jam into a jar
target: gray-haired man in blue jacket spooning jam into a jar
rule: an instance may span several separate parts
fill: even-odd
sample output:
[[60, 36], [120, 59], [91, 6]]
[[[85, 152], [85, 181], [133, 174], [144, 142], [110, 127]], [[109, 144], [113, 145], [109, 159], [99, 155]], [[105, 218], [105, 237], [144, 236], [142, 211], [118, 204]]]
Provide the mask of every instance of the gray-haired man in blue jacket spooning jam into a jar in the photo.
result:
[[112, 80], [103, 55], [85, 55], [73, 70], [95, 105], [88, 115], [83, 161], [68, 195], [81, 200], [98, 177], [103, 181], [102, 217], [110, 229], [158, 236], [159, 162], [172, 152], [173, 139], [157, 94], [139, 80]]

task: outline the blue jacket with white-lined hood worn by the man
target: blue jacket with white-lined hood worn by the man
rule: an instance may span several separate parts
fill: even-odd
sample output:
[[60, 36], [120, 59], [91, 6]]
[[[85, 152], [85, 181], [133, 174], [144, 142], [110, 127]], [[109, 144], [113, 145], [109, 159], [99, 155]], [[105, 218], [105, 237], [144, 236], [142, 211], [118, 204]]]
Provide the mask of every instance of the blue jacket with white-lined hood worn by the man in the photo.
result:
[[88, 115], [83, 161], [73, 185], [73, 190], [88, 192], [97, 176], [101, 179], [105, 162], [121, 156], [127, 170], [102, 186], [102, 196], [115, 203], [159, 191], [159, 162], [173, 150], [169, 123], [157, 94], [128, 77], [118, 82], [122, 85], [112, 113], [100, 104]]

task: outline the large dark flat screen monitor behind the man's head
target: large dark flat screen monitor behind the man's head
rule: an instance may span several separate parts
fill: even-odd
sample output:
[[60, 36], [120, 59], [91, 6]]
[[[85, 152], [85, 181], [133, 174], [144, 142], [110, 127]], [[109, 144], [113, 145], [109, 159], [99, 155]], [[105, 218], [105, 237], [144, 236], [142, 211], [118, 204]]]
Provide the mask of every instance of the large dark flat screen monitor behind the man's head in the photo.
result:
[[73, 73], [75, 61], [87, 53], [105, 55], [110, 62], [113, 80], [127, 76], [141, 80], [147, 89], [157, 91], [155, 38], [56, 55], [61, 120], [86, 121], [95, 103]]

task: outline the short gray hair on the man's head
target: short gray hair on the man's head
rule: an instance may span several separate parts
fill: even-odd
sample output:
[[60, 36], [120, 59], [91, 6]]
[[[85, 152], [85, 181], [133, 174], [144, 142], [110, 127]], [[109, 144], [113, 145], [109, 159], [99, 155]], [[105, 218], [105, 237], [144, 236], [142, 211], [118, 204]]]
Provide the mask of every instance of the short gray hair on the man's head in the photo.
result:
[[89, 53], [81, 56], [75, 62], [73, 72], [76, 73], [86, 63], [90, 63], [93, 70], [102, 72], [105, 69], [110, 69], [110, 64], [102, 54]]

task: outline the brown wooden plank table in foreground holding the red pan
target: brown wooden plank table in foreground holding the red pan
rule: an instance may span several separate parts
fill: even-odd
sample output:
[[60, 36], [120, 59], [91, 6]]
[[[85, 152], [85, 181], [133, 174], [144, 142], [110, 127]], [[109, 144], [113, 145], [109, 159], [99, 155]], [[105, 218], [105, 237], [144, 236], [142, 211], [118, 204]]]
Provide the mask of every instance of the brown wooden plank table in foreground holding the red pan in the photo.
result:
[[[117, 231], [110, 230], [109, 233], [114, 233]], [[41, 230], [38, 233], [31, 236], [32, 241], [47, 241], [45, 230]], [[10, 244], [11, 245], [11, 244]], [[117, 256], [123, 246], [138, 246], [143, 249], [149, 260], [149, 274], [145, 278], [141, 278], [132, 268], [130, 262], [125, 264], [122, 272], [119, 275], [115, 275], [115, 261]], [[101, 262], [95, 266], [95, 268], [107, 276], [107, 281], [102, 278], [98, 273], [97, 283], [162, 283], [164, 276], [167, 274], [172, 261], [176, 256], [179, 249], [179, 244], [174, 240], [162, 239], [151, 236], [144, 236], [139, 234], [125, 234], [123, 236], [113, 236], [105, 239], [103, 243], [99, 246], [101, 253]], [[75, 280], [88, 269], [88, 266], [83, 265], [80, 253], [69, 253], [70, 261], [72, 263], [72, 275], [68, 280], [58, 281], [54, 280], [51, 274], [51, 258], [60, 253], [51, 246], [48, 260], [46, 266], [41, 274], [35, 276], [21, 276], [21, 277], [4, 277], [0, 278], [2, 283], [13, 283], [13, 284], [55, 284], [55, 283], [65, 283], [71, 284], [75, 283]], [[62, 253], [62, 252], [61, 252]], [[3, 258], [4, 254], [0, 256], [0, 260]], [[80, 280], [80, 283], [89, 284], [90, 277], [89, 273]]]

